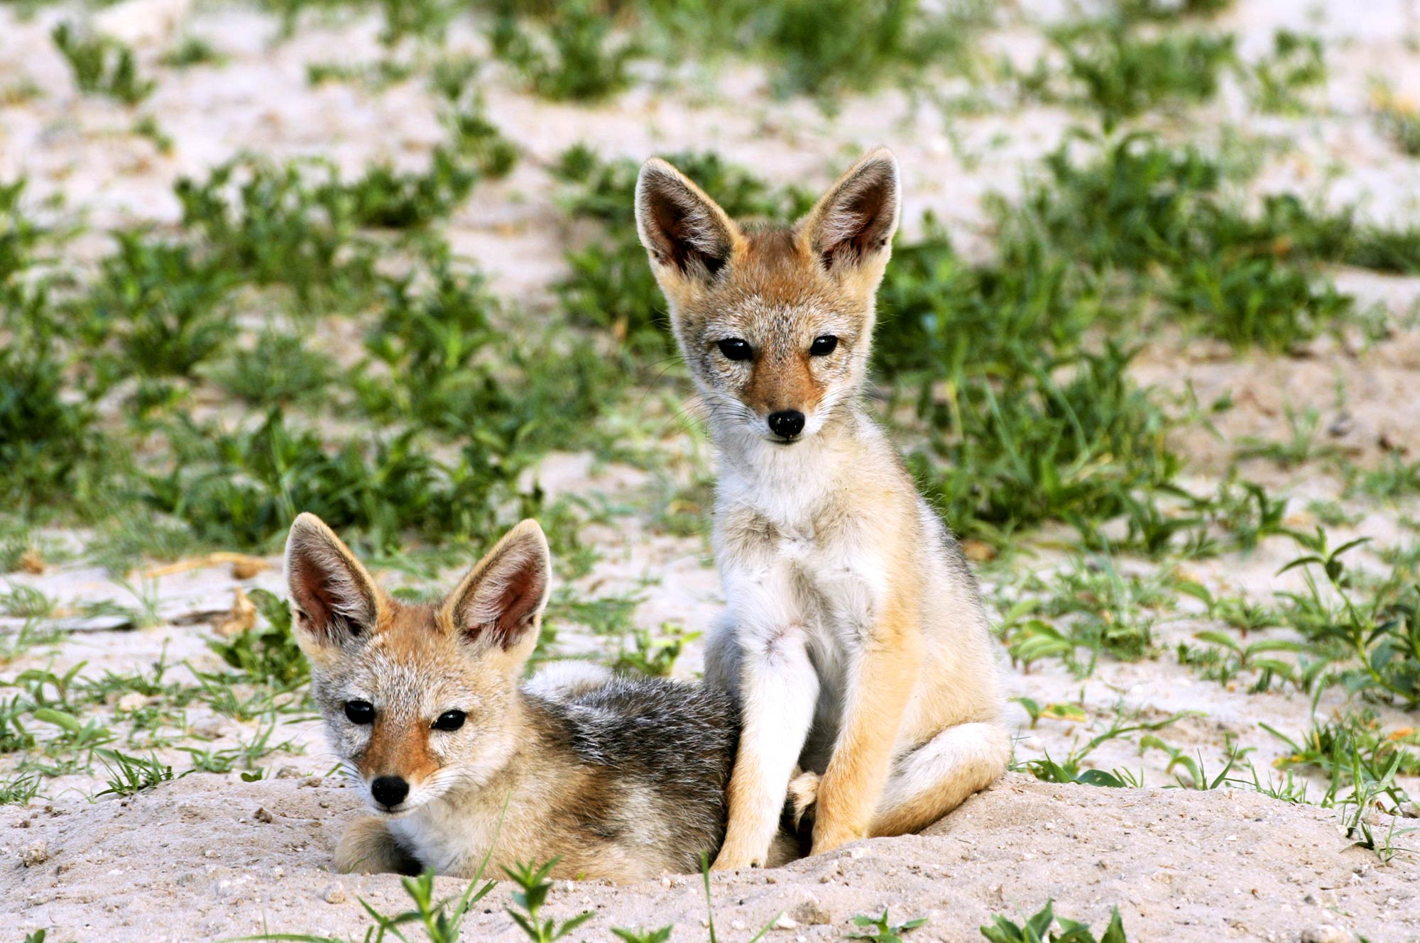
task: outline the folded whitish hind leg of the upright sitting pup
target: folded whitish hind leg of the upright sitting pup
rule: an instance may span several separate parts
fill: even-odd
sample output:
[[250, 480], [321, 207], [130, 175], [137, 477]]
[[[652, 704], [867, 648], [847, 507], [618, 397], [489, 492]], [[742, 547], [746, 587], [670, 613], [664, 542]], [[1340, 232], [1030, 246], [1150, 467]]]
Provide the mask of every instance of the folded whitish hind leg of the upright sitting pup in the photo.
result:
[[893, 763], [869, 834], [922, 831], [995, 783], [1010, 760], [1011, 734], [1001, 724], [947, 727]]

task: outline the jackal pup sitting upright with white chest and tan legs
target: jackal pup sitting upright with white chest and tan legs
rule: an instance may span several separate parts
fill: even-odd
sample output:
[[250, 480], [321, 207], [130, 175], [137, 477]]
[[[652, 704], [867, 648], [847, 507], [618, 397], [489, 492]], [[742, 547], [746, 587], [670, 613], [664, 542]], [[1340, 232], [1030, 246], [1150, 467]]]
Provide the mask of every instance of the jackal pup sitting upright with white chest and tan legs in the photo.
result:
[[1010, 757], [976, 579], [861, 402], [899, 202], [883, 149], [792, 227], [736, 224], [663, 160], [636, 183], [720, 460], [706, 680], [744, 730], [716, 868], [765, 863], [795, 765], [818, 854], [920, 829]]

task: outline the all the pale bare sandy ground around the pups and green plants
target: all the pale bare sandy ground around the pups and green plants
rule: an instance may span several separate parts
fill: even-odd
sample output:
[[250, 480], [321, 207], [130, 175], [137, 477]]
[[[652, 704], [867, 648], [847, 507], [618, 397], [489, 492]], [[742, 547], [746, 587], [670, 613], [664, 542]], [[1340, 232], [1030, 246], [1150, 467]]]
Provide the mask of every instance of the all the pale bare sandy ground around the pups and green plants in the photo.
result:
[[[1031, 16], [1048, 16], [1052, 4], [1022, 6]], [[1338, 203], [1362, 200], [1377, 219], [1413, 219], [1420, 205], [1420, 162], [1399, 158], [1375, 131], [1366, 108], [1367, 82], [1377, 72], [1397, 88], [1420, 80], [1414, 6], [1406, 0], [1363, 7], [1343, 0], [1240, 0], [1220, 20], [1223, 28], [1241, 34], [1245, 54], [1260, 53], [1277, 26], [1319, 33], [1329, 45], [1332, 78], [1321, 95], [1319, 114], [1251, 124], [1254, 131], [1289, 142], [1289, 149], [1267, 162], [1258, 192], [1291, 189]], [[41, 89], [33, 99], [0, 105], [0, 179], [27, 173], [37, 207], [47, 196], [62, 193], [65, 207], [58, 214], [84, 219], [95, 230], [170, 223], [178, 216], [173, 180], [203, 173], [241, 149], [273, 156], [320, 153], [346, 169], [383, 158], [419, 166], [442, 136], [432, 99], [419, 82], [381, 92], [341, 82], [307, 84], [308, 62], [376, 60], [381, 48], [373, 20], [312, 21], [281, 43], [275, 20], [251, 9], [128, 0], [95, 16], [102, 28], [133, 43], [141, 65], [160, 77], [153, 98], [141, 109], [159, 116], [175, 141], [170, 155], [159, 153], [149, 141], [129, 133], [133, 112], [72, 89], [47, 36], [55, 21], [85, 16], [70, 7], [44, 7], [34, 18], [21, 20], [11, 9], [0, 9], [0, 87], [27, 80]], [[210, 38], [229, 60], [183, 71], [158, 67], [160, 51], [186, 33]], [[1022, 65], [1030, 65], [1039, 48], [1038, 34], [1024, 27], [988, 41]], [[477, 55], [484, 40], [464, 24], [454, 28], [450, 48]], [[456, 212], [449, 226], [454, 249], [491, 273], [500, 294], [534, 311], [545, 304], [548, 284], [562, 270], [561, 253], [574, 236], [545, 168], [579, 141], [606, 155], [636, 159], [684, 148], [716, 149], [772, 180], [808, 185], [829, 182], [856, 153], [888, 142], [905, 170], [907, 226], [932, 209], [967, 250], [980, 249], [985, 241], [980, 197], [1018, 189], [1025, 168], [1054, 149], [1075, 121], [1064, 109], [1041, 107], [964, 116], [896, 91], [853, 98], [836, 116], [826, 116], [808, 102], [772, 101], [763, 85], [755, 70], [728, 68], [709, 87], [699, 81], [648, 82], [606, 105], [579, 108], [538, 101], [490, 64], [483, 75], [490, 116], [524, 149], [524, 159], [510, 179], [480, 185]], [[1193, 121], [1207, 128], [1247, 118], [1241, 94], [1230, 87], [1217, 105]], [[105, 250], [99, 236], [71, 246], [78, 260]], [[1342, 273], [1339, 283], [1397, 317], [1413, 314], [1420, 300], [1420, 280], [1414, 278]], [[1218, 435], [1196, 430], [1181, 436], [1180, 447], [1200, 489], [1216, 486], [1208, 476], [1221, 471], [1242, 437], [1287, 437], [1287, 405], [1321, 410], [1326, 442], [1363, 463], [1373, 462], [1386, 443], [1420, 442], [1420, 410], [1413, 402], [1420, 347], [1413, 331], [1397, 331], [1375, 345], [1318, 342], [1308, 356], [1287, 359], [1237, 359], [1206, 344], [1159, 338], [1136, 374], [1173, 392], [1191, 385], [1203, 403], [1224, 393], [1237, 403], [1216, 419]], [[1340, 399], [1338, 378], [1345, 393]], [[629, 426], [657, 429], [667, 452], [690, 456], [672, 466], [673, 477], [706, 467], [707, 457], [696, 453], [659, 399], [648, 398], [636, 409], [646, 415], [629, 416]], [[594, 471], [591, 464], [588, 456], [552, 456], [538, 474], [554, 494], [577, 491], [638, 508], [665, 487], [642, 471]], [[1335, 498], [1340, 491], [1338, 481], [1311, 471], [1261, 464], [1247, 471], [1292, 496], [1302, 525], [1306, 517], [1301, 508], [1308, 498]], [[1335, 530], [1338, 543], [1350, 535], [1370, 535], [1377, 547], [1414, 540], [1397, 520], [1416, 516], [1416, 507], [1365, 511], [1356, 525]], [[72, 541], [75, 535], [51, 537]], [[657, 533], [645, 513], [591, 525], [584, 537], [604, 557], [579, 581], [582, 595], [635, 592], [643, 598], [636, 623], [648, 626], [670, 622], [700, 631], [717, 611], [719, 582], [699, 537]], [[1265, 602], [1275, 591], [1298, 587], [1296, 574], [1275, 577], [1294, 555], [1289, 541], [1271, 540], [1248, 555], [1189, 567], [1190, 575], [1216, 591], [1233, 588]], [[1058, 547], [1042, 541], [1032, 555], [987, 568], [987, 595], [1010, 595], [1024, 572], [1048, 572], [1062, 557]], [[1130, 561], [1120, 565], [1149, 569]], [[6, 579], [40, 588], [68, 606], [97, 599], [135, 602], [114, 574], [84, 562]], [[30, 667], [62, 672], [80, 662], [87, 662], [85, 676], [106, 669], [149, 670], [162, 658], [172, 665], [172, 679], [190, 680], [193, 667], [217, 666], [206, 639], [212, 622], [231, 605], [233, 591], [257, 585], [280, 589], [280, 577], [274, 567], [247, 579], [234, 578], [229, 567], [209, 567], [132, 585], [159, 601], [159, 625], [133, 629], [118, 625], [121, 619], [61, 621], [67, 632], [57, 645], [30, 650], [4, 666], [0, 679]], [[1217, 770], [1231, 740], [1252, 750], [1250, 760], [1262, 778], [1275, 775], [1271, 764], [1285, 756], [1285, 746], [1261, 724], [1301, 733], [1314, 716], [1309, 699], [1291, 690], [1252, 694], [1247, 679], [1223, 687], [1177, 665], [1170, 646], [1210, 628], [1189, 601], [1176, 612], [1150, 618], [1157, 618], [1157, 658], [1139, 663], [1106, 659], [1088, 680], [1058, 665], [1030, 673], [1007, 670], [1010, 694], [1078, 703], [1085, 712], [1081, 723], [1042, 720], [1031, 729], [1025, 713], [1012, 704], [1017, 757], [1049, 751], [1059, 758], [1120, 716], [1157, 720], [1193, 712], [1162, 731], [1172, 746], [1196, 753], [1207, 768]], [[16, 621], [0, 619], [0, 632], [16, 628]], [[605, 645], [577, 626], [559, 629], [565, 652]], [[677, 673], [689, 675], [699, 666], [700, 650], [692, 643]], [[1342, 692], [1332, 689], [1316, 706], [1316, 716], [1343, 706]], [[1386, 729], [1414, 724], [1414, 717], [1399, 712], [1382, 712], [1380, 719]], [[258, 733], [254, 724], [202, 704], [189, 710], [187, 723], [207, 738], [202, 746], [214, 748]], [[291, 738], [293, 751], [274, 754], [264, 764], [284, 768], [288, 778], [244, 784], [236, 774], [195, 774], [128, 801], [91, 804], [87, 795], [102, 788], [102, 777], [74, 775], [45, 784], [53, 810], [44, 800], [28, 810], [0, 808], [0, 926], [11, 934], [16, 926], [21, 932], [55, 927], [51, 939], [57, 940], [216, 939], [263, 926], [354, 934], [361, 926], [356, 895], [386, 910], [403, 906], [392, 878], [328, 873], [331, 841], [352, 805], [351, 792], [328, 781], [304, 785], [300, 778], [331, 768], [312, 723], [293, 720], [275, 737]], [[186, 754], [160, 756], [179, 768], [187, 765]], [[1159, 751], [1140, 756], [1136, 740], [1118, 740], [1096, 751], [1091, 765], [1127, 767], [1149, 784], [1166, 785], [1173, 781], [1166, 763]], [[1416, 792], [1414, 783], [1410, 788]], [[256, 818], [258, 808], [270, 812], [270, 822]], [[452, 883], [446, 886], [453, 890]], [[1034, 912], [1055, 896], [1066, 916], [1099, 925], [1118, 903], [1126, 926], [1145, 940], [1348, 939], [1321, 932], [1339, 925], [1379, 943], [1420, 939], [1417, 890], [1413, 859], [1402, 856], [1380, 866], [1375, 855], [1348, 851], [1332, 811], [1289, 807], [1245, 791], [1115, 791], [1054, 787], [1020, 775], [973, 800], [926, 836], [866, 842], [777, 875], [717, 878], [714, 883], [717, 926], [733, 940], [748, 939], [778, 910], [787, 910], [797, 926], [774, 930], [771, 939], [838, 939], [853, 913], [888, 905], [897, 919], [932, 916], [913, 939], [970, 940], [978, 939], [974, 927], [988, 913]], [[809, 895], [815, 906], [805, 905]], [[471, 917], [467, 939], [515, 939], [501, 913], [504, 900], [500, 890], [487, 902], [490, 913]], [[605, 927], [612, 925], [667, 920], [684, 929], [676, 939], [699, 939], [701, 933], [703, 898], [696, 881], [628, 889], [579, 885], [559, 889], [554, 906], [564, 915], [596, 906], [601, 916], [585, 930], [589, 939], [605, 939]], [[14, 910], [16, 919], [6, 917], [7, 910]], [[1302, 937], [1304, 932], [1315, 933]]]

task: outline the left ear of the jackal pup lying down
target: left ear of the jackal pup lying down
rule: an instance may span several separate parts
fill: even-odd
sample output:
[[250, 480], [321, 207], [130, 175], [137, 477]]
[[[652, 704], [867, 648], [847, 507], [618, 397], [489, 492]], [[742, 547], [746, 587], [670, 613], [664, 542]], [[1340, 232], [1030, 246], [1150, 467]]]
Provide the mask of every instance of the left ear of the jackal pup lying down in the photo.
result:
[[315, 514], [301, 514], [285, 540], [291, 625], [302, 646], [345, 645], [379, 621], [375, 581]]

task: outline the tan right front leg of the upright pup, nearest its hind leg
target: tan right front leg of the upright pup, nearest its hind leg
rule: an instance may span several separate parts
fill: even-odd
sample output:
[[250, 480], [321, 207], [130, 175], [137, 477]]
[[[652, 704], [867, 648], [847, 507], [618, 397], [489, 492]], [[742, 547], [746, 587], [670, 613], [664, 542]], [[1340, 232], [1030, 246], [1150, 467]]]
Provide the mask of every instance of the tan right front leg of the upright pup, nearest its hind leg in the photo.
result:
[[889, 608], [849, 672], [843, 723], [818, 784], [814, 851], [865, 838], [888, 781], [893, 746], [922, 669], [919, 621]]

